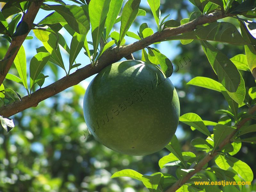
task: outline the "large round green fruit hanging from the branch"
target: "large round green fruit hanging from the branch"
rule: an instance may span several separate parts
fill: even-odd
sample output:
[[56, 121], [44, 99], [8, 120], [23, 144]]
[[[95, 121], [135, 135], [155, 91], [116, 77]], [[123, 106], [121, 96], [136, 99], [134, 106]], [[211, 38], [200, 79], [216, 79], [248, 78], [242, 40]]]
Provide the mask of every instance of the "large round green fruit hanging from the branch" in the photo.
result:
[[180, 115], [177, 92], [157, 65], [127, 60], [104, 68], [89, 84], [86, 124], [106, 147], [128, 155], [164, 148]]

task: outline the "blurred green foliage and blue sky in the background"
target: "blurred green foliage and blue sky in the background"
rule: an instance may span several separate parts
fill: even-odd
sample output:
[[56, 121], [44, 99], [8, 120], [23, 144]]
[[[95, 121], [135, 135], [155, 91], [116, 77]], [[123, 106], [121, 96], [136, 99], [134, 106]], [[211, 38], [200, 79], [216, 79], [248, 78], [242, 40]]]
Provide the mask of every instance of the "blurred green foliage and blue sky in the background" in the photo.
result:
[[[149, 8], [147, 6], [142, 8], [146, 10], [147, 16], [136, 19], [134, 32], [143, 22], [147, 22], [150, 27], [154, 26]], [[161, 0], [162, 18], [171, 14], [170, 19], [181, 20], [189, 18], [194, 10], [195, 7], [188, 0], [173, 0], [171, 3]], [[237, 22], [234, 21], [233, 24], [237, 25]], [[36, 38], [29, 41], [31, 49], [33, 44], [38, 43]], [[9, 44], [0, 38], [0, 45], [0, 58], [3, 58]], [[244, 53], [244, 46], [222, 43], [214, 45], [229, 58]], [[193, 112], [203, 120], [218, 122], [220, 115], [215, 114], [215, 111], [227, 108], [222, 94], [186, 85], [195, 76], [217, 80], [200, 43], [193, 41], [182, 45], [179, 41], [171, 41], [157, 44], [156, 47], [165, 54], [167, 52], [166, 56], [172, 60], [175, 71], [178, 70], [170, 79], [175, 79], [181, 115]], [[141, 52], [136, 52], [134, 56], [135, 59], [140, 60]], [[62, 77], [60, 69], [50, 64], [45, 68], [44, 74], [49, 75], [47, 74], [49, 69], [55, 74], [49, 78], [55, 81], [58, 77]], [[14, 68], [11, 71], [16, 73]], [[243, 71], [242, 75], [247, 87], [255, 85], [250, 72]], [[20, 87], [9, 81], [5, 81], [5, 85], [14, 87], [14, 90], [19, 90]], [[160, 170], [158, 165], [158, 160], [169, 154], [167, 149], [148, 156], [128, 156], [112, 151], [92, 136], [88, 136], [82, 112], [84, 92], [83, 84], [71, 87], [39, 103], [36, 108], [27, 109], [13, 116], [15, 127], [10, 132], [0, 130], [0, 191], [143, 192], [148, 190], [142, 182], [126, 177], [118, 179], [110, 179], [110, 177], [114, 172], [122, 169], [134, 169], [142, 174], [160, 171], [175, 175], [175, 169], [168, 167]], [[242, 108], [245, 109], [246, 107]], [[209, 128], [212, 131], [212, 127]], [[189, 126], [180, 123], [177, 136], [183, 151], [203, 155], [190, 145], [194, 138], [204, 138], [202, 133], [193, 132]], [[256, 177], [255, 151], [255, 145], [243, 143], [241, 150], [235, 155], [252, 168], [254, 178]], [[228, 191], [228, 188], [223, 188], [223, 191]], [[256, 191], [255, 181], [251, 188], [246, 188], [245, 191]]]

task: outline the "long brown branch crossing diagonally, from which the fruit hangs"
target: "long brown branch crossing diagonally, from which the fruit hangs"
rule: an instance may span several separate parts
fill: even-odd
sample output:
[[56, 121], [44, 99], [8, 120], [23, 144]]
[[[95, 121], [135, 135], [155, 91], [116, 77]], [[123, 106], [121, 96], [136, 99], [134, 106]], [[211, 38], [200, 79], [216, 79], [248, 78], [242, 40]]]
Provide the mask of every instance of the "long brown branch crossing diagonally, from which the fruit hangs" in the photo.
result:
[[104, 67], [110, 65], [111, 63], [119, 61], [121, 58], [131, 55], [133, 52], [139, 51], [153, 43], [166, 41], [168, 37], [193, 31], [196, 26], [210, 23], [230, 15], [224, 15], [222, 11], [216, 11], [211, 14], [201, 16], [193, 21], [190, 21], [184, 25], [181, 25], [176, 28], [166, 28], [161, 33], [156, 32], [153, 35], [146, 37], [142, 40], [136, 41], [133, 44], [120, 47], [117, 51], [116, 48], [107, 50], [100, 57], [95, 67], [92, 67], [90, 64], [78, 69], [69, 76], [63, 77], [62, 79], [46, 86], [45, 88], [39, 89], [36, 92], [32, 93], [30, 97], [25, 96], [21, 98], [21, 101], [16, 101], [8, 106], [0, 108], [0, 115], [9, 117], [14, 114], [17, 114], [27, 108], [36, 107], [40, 101], [43, 101], [49, 97], [54, 96], [55, 94], [62, 92], [63, 90], [78, 84], [84, 79], [99, 73]]

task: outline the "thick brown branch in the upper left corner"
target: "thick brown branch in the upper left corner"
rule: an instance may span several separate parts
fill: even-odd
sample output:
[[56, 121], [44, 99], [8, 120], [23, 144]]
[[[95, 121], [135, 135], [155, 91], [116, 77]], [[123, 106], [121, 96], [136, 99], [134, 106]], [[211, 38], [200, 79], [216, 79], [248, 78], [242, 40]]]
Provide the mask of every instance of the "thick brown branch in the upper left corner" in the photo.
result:
[[28, 24], [29, 30], [24, 35], [16, 36], [16, 37], [12, 38], [9, 49], [4, 56], [4, 60], [6, 60], [6, 62], [4, 62], [5, 66], [3, 68], [3, 71], [0, 72], [0, 85], [3, 83], [5, 76], [7, 75], [8, 71], [10, 70], [12, 63], [13, 63], [19, 49], [21, 48], [22, 43], [24, 42], [25, 38], [28, 36], [30, 28], [32, 27], [32, 24], [35, 20], [37, 12], [40, 9], [41, 4], [42, 4], [42, 1], [31, 3], [28, 11], [26, 12], [26, 14], [23, 15], [21, 21]]

